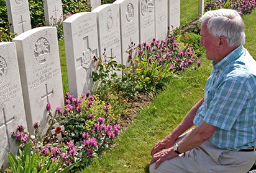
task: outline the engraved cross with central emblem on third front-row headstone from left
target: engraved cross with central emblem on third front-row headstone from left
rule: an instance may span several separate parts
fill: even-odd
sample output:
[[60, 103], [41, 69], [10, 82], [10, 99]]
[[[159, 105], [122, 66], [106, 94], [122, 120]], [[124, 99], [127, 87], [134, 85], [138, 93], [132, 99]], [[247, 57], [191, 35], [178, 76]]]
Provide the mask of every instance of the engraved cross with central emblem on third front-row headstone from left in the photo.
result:
[[81, 68], [88, 69], [93, 61], [93, 56], [98, 56], [97, 49], [91, 51], [91, 48], [89, 48], [89, 38], [88, 36], [85, 36], [83, 38], [83, 55], [76, 59], [76, 62], [79, 63], [76, 70]]

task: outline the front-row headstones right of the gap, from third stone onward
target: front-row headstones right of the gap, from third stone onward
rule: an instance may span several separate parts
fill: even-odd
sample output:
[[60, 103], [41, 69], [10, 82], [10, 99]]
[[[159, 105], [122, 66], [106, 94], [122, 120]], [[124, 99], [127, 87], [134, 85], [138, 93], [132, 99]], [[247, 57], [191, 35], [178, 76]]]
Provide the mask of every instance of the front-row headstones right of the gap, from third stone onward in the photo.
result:
[[71, 15], [63, 22], [70, 94], [93, 90], [93, 56], [105, 53], [127, 65], [131, 42], [165, 40], [168, 27], [179, 26], [180, 0], [117, 0]]

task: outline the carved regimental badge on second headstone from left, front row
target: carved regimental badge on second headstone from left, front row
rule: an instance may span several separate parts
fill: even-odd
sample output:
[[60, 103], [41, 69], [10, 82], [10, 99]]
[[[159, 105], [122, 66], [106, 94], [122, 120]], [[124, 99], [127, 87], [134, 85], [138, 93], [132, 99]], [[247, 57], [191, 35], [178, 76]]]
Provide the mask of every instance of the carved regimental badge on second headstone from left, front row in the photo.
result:
[[35, 48], [34, 48], [34, 54], [35, 54], [35, 60], [39, 63], [42, 64], [43, 62], [47, 61], [48, 56], [47, 54], [50, 53], [50, 44], [47, 41], [46, 38], [39, 38], [37, 42], [35, 43]]

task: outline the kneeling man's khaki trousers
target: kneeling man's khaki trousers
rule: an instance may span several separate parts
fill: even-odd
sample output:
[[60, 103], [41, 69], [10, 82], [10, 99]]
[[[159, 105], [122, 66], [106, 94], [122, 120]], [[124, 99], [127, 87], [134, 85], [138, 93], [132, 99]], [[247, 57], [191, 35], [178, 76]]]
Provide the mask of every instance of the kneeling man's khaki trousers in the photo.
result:
[[[176, 142], [185, 135], [178, 138]], [[162, 162], [157, 169], [154, 169], [154, 162], [150, 165], [150, 173], [246, 173], [254, 164], [255, 159], [256, 151], [223, 150], [206, 141], [185, 154]]]

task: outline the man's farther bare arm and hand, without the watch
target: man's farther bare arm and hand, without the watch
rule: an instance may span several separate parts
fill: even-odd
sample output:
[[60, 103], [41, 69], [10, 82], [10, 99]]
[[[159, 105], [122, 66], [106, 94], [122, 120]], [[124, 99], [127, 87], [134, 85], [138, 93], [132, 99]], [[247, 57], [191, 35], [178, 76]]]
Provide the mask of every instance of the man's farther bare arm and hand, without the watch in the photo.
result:
[[190, 129], [193, 124], [194, 116], [196, 116], [196, 112], [198, 111], [199, 107], [203, 104], [204, 98], [199, 100], [198, 103], [194, 104], [193, 108], [190, 109], [188, 114], [186, 114], [185, 118], [180, 122], [178, 127], [173, 130], [167, 137], [163, 138], [160, 142], [156, 143], [151, 151], [151, 155], [157, 153], [157, 151], [161, 150], [162, 148], [170, 148], [174, 145], [176, 139], [184, 133], [186, 130]]

